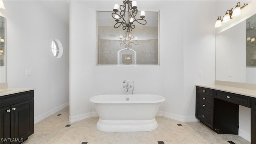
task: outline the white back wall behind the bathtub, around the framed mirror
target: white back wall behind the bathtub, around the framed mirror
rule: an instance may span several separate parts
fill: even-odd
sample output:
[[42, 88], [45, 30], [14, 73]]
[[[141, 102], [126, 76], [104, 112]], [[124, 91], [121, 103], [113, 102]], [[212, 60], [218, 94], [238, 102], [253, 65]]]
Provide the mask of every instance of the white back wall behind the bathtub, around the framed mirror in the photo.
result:
[[215, 2], [138, 1], [140, 10], [160, 10], [160, 66], [96, 66], [96, 10], [112, 10], [116, 3], [100, 2], [71, 2], [70, 121], [92, 115], [90, 97], [124, 94], [123, 80], [134, 80], [134, 94], [164, 96], [160, 111], [166, 117], [196, 120], [195, 84], [215, 80]]

